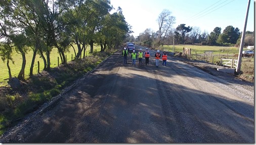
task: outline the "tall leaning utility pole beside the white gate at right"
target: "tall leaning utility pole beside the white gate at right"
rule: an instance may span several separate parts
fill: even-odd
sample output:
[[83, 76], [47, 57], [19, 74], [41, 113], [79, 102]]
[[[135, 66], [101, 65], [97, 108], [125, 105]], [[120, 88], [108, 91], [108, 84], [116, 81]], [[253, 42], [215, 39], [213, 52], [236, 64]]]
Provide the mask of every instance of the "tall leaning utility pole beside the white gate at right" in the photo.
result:
[[236, 68], [236, 73], [240, 73], [240, 70], [241, 70], [243, 41], [244, 41], [244, 36], [245, 36], [245, 32], [246, 32], [249, 7], [250, 7], [250, 0], [248, 0], [247, 12], [246, 12], [246, 16], [245, 16], [244, 28], [243, 28], [243, 33], [242, 33], [241, 42], [240, 42], [240, 49], [239, 49], [239, 54], [238, 54], [238, 64], [237, 64], [237, 68]]

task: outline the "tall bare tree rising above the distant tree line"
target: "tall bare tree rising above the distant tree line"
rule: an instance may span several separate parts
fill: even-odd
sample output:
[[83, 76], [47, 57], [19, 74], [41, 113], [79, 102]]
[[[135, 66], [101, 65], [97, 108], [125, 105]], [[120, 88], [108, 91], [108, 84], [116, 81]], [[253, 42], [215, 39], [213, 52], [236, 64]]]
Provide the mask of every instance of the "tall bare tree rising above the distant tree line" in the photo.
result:
[[158, 16], [158, 41], [157, 46], [160, 46], [160, 42], [163, 41], [167, 35], [167, 33], [172, 28], [172, 25], [175, 24], [176, 18], [174, 16], [170, 16], [171, 12], [169, 10], [164, 9]]

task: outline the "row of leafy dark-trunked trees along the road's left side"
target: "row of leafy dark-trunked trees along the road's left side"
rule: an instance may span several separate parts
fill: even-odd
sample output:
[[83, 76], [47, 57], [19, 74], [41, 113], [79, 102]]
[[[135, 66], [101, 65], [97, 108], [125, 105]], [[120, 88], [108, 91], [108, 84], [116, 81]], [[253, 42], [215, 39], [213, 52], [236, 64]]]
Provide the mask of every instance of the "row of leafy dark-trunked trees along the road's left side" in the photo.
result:
[[132, 32], [131, 26], [125, 22], [121, 8], [110, 14], [112, 9], [110, 0], [2, 0], [0, 56], [7, 61], [9, 78], [13, 51], [22, 56], [18, 78], [24, 79], [28, 51], [33, 51], [29, 73], [32, 76], [36, 54], [44, 60], [44, 70], [50, 69], [53, 47], [65, 64], [69, 47], [73, 48], [75, 59], [79, 59], [87, 45], [92, 53], [95, 43], [101, 45], [101, 52], [121, 44]]

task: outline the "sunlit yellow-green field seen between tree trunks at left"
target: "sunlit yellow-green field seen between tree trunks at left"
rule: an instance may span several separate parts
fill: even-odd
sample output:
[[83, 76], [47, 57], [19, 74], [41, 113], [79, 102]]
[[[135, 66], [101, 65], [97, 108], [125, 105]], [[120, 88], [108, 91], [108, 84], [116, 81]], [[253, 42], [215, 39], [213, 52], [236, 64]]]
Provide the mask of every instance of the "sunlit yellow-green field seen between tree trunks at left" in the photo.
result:
[[[77, 53], [77, 47], [75, 47], [75, 51]], [[90, 50], [90, 47], [87, 47], [86, 50], [86, 55], [88, 54]], [[100, 46], [94, 46], [94, 51], [99, 51], [100, 50]], [[66, 52], [65, 55], [67, 56], [67, 62], [71, 61], [71, 58], [74, 59], [75, 57], [75, 53], [73, 51], [72, 48], [69, 49], [69, 52]], [[30, 66], [31, 66], [31, 60], [32, 60], [32, 56], [33, 56], [33, 52], [30, 51], [26, 54], [26, 67], [25, 67], [25, 79], [29, 77], [29, 70], [30, 70]], [[45, 55], [46, 57], [46, 55]], [[58, 57], [60, 57], [58, 50], [56, 48], [54, 48], [50, 54], [50, 61], [51, 61], [51, 68], [57, 67], [58, 66]], [[82, 52], [82, 57], [83, 57], [83, 52]], [[22, 57], [20, 54], [18, 53], [13, 53], [12, 56], [13, 60], [14, 60], [14, 64], [12, 64], [11, 62], [9, 63], [10, 68], [11, 68], [11, 73], [12, 73], [12, 77], [17, 77], [20, 69], [21, 69], [21, 65], [22, 65]], [[38, 65], [37, 62], [39, 61], [39, 70], [40, 72], [42, 71], [42, 69], [44, 69], [44, 61], [40, 58], [39, 55], [36, 55], [35, 58], [35, 62], [34, 62], [34, 67], [33, 67], [33, 74], [37, 74], [37, 70], [38, 70]], [[61, 59], [59, 58], [59, 63], [61, 64]], [[0, 61], [0, 86], [5, 86], [7, 85], [7, 81], [9, 78], [9, 74], [8, 74], [8, 68], [6, 65], [6, 61], [3, 62], [2, 60]]]

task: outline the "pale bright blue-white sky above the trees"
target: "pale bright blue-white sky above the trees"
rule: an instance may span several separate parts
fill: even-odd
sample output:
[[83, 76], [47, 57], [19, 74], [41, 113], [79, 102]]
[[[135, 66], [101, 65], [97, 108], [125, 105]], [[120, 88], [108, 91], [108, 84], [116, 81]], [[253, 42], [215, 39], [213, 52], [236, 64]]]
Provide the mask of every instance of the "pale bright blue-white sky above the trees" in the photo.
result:
[[[164, 10], [176, 18], [173, 28], [180, 24], [198, 27], [210, 33], [216, 27], [222, 32], [227, 26], [244, 29], [248, 0], [110, 0], [114, 10], [122, 9], [125, 21], [132, 26], [134, 37], [146, 29], [158, 30], [157, 18]], [[254, 31], [254, 3], [250, 1], [246, 31]]]

